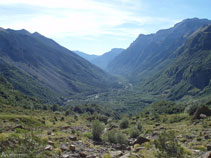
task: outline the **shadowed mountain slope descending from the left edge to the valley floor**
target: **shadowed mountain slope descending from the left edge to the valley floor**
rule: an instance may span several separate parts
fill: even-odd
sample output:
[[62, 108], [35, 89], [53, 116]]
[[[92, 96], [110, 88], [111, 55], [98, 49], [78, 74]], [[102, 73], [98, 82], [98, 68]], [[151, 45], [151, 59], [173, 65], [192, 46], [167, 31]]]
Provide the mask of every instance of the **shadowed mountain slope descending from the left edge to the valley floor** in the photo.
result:
[[0, 71], [15, 88], [43, 98], [47, 93], [40, 94], [36, 85], [52, 94], [69, 96], [94, 93], [110, 84], [110, 76], [101, 69], [53, 40], [26, 30], [0, 29], [0, 63], [15, 68], [15, 75], [10, 68]]

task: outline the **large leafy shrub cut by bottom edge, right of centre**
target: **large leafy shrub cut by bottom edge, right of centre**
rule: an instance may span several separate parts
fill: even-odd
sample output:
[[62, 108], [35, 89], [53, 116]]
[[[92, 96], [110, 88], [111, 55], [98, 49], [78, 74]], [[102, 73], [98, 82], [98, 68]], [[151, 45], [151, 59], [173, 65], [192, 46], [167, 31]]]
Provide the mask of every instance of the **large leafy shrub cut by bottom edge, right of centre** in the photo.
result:
[[155, 147], [158, 150], [155, 154], [157, 158], [184, 158], [186, 155], [173, 131], [163, 132], [159, 138], [155, 140]]

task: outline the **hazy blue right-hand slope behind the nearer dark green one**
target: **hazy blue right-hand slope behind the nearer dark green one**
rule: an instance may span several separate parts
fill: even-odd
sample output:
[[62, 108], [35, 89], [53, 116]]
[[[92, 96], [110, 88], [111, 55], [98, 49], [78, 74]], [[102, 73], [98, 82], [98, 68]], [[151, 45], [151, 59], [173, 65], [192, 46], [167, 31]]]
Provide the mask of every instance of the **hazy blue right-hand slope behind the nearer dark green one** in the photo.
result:
[[211, 24], [207, 19], [186, 19], [156, 34], [139, 35], [128, 49], [108, 66], [114, 74], [140, 81], [162, 70], [171, 61], [171, 54], [201, 27]]

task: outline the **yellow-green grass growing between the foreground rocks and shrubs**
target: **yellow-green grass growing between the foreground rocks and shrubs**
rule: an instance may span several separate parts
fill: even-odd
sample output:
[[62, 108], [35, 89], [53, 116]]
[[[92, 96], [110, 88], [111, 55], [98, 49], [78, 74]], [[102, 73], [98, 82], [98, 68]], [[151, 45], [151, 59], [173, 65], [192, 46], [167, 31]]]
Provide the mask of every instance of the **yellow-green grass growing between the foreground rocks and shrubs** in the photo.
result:
[[[96, 146], [92, 143], [92, 133], [91, 124], [92, 121], [87, 120], [92, 115], [81, 114], [76, 115], [71, 114], [65, 116], [65, 112], [52, 112], [49, 110], [30, 110], [24, 109], [22, 107], [14, 106], [1, 106], [0, 107], [0, 140], [4, 144], [8, 142], [20, 142], [22, 145], [18, 148], [15, 144], [11, 143], [10, 148], [3, 149], [4, 152], [11, 152], [11, 150], [20, 152], [28, 149], [25, 144], [31, 143], [32, 146], [40, 148], [43, 157], [51, 157], [52, 155], [59, 155], [62, 153], [60, 151], [60, 144], [71, 142], [69, 136], [73, 135], [78, 138], [81, 142], [87, 144], [91, 149], [101, 148], [101, 146]], [[62, 119], [64, 118], [64, 119]], [[150, 142], [139, 146], [134, 146], [133, 148], [143, 147], [138, 154], [141, 157], [152, 157], [153, 152], [156, 152], [154, 147], [154, 139], [158, 137], [164, 131], [175, 131], [176, 137], [179, 143], [184, 147], [184, 149], [189, 152], [189, 155], [193, 154], [193, 150], [200, 150], [205, 152], [207, 144], [211, 141], [205, 139], [205, 135], [208, 135], [211, 121], [207, 117], [203, 120], [192, 120], [191, 116], [187, 113], [177, 113], [177, 114], [160, 114], [155, 116], [154, 114], [139, 114], [132, 117], [127, 117], [128, 126], [126, 129], [120, 128], [120, 123], [122, 120], [111, 120], [105, 125], [105, 128], [109, 128], [111, 125], [116, 125], [117, 129], [112, 130], [115, 136], [118, 131], [124, 135], [125, 138], [129, 138], [131, 134], [131, 129], [137, 128], [141, 125], [141, 132], [139, 133], [143, 137], [149, 137]], [[18, 127], [19, 128], [16, 128]], [[21, 127], [22, 126], [22, 127]], [[69, 129], [64, 129], [64, 127], [70, 127]], [[49, 132], [51, 134], [49, 135]], [[108, 133], [107, 133], [108, 134]], [[104, 134], [102, 136], [103, 141], [107, 141], [108, 135]], [[33, 141], [30, 142], [29, 138]], [[122, 137], [118, 137], [122, 140]], [[110, 137], [112, 140], [113, 138]], [[114, 137], [114, 143], [117, 138]], [[23, 141], [25, 140], [25, 142]], [[127, 139], [125, 139], [127, 140]], [[44, 151], [46, 142], [53, 141], [54, 147], [52, 151]], [[112, 142], [112, 141], [111, 141]], [[33, 145], [33, 143], [35, 144]], [[6, 145], [7, 146], [7, 145]], [[31, 154], [36, 151], [33, 147]], [[2, 151], [1, 151], [2, 152]], [[27, 153], [30, 154], [30, 153]], [[108, 157], [109, 152], [104, 157]], [[191, 157], [191, 156], [190, 156]], [[192, 156], [193, 157], [193, 156]]]

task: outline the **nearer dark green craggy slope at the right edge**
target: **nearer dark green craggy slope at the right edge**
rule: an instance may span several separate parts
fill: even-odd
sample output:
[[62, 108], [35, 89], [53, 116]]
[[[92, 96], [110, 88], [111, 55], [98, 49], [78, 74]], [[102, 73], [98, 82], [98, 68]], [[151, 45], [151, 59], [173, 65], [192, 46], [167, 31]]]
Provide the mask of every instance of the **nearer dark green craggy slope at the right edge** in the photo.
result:
[[211, 25], [195, 32], [173, 56], [176, 59], [141, 89], [180, 99], [211, 94]]

